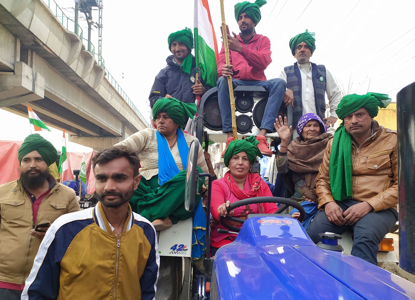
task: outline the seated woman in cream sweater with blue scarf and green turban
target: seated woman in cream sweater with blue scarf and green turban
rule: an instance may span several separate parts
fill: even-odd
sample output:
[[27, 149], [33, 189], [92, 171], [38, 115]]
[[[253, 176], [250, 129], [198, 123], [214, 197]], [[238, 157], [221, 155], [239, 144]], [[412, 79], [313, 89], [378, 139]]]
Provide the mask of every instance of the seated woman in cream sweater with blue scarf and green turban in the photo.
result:
[[[193, 119], [194, 103], [183, 103], [175, 98], [161, 98], [153, 106], [157, 129], [146, 128], [118, 143], [130, 146], [139, 153], [139, 173], [142, 179], [130, 205], [153, 222], [156, 230], [191, 217], [184, 208], [184, 187], [189, 145], [196, 138], [183, 132], [187, 117]], [[208, 172], [203, 151], [198, 153], [198, 167]], [[199, 190], [203, 180], [199, 181]], [[196, 198], [197, 199], [197, 198]], [[198, 203], [197, 203], [198, 204]]]

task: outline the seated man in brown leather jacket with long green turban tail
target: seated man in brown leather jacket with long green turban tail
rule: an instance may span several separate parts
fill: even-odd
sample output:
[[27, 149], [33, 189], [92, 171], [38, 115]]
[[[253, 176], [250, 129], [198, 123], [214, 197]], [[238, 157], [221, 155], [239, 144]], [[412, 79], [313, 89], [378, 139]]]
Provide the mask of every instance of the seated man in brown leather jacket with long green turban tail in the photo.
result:
[[316, 181], [320, 210], [307, 233], [352, 231], [352, 255], [377, 264], [378, 244], [398, 219], [396, 131], [373, 120], [388, 95], [347, 95], [336, 110], [343, 123], [329, 140]]

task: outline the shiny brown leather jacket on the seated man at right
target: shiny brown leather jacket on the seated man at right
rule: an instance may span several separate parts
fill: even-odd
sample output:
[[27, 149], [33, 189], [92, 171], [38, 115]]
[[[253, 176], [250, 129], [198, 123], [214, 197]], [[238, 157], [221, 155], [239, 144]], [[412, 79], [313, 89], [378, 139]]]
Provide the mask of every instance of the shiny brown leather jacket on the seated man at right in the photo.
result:
[[[398, 210], [398, 135], [372, 122], [373, 134], [359, 149], [352, 141], [352, 199], [367, 201], [375, 212]], [[316, 180], [318, 207], [334, 202], [330, 190], [329, 160], [333, 139], [327, 143]]]

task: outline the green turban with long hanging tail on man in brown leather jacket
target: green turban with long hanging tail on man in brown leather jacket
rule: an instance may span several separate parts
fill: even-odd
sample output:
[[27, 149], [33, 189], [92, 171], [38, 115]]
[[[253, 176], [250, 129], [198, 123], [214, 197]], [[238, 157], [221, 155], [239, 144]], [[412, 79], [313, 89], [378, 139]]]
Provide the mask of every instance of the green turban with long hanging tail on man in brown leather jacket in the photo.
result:
[[[376, 117], [379, 107], [384, 108], [389, 103], [391, 103], [391, 98], [386, 94], [346, 95], [340, 101], [336, 114], [343, 120], [364, 107], [371, 117]], [[344, 122], [334, 132], [329, 173], [334, 200], [342, 201], [352, 197], [352, 136], [344, 127]]]

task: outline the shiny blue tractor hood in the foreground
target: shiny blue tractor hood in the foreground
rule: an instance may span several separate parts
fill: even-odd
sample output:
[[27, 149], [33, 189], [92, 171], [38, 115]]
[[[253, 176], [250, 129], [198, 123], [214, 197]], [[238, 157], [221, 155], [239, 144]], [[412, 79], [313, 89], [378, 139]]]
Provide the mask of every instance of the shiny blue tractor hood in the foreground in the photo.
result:
[[211, 299], [415, 299], [415, 284], [324, 250], [291, 217], [250, 217], [215, 255]]

